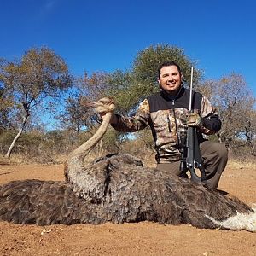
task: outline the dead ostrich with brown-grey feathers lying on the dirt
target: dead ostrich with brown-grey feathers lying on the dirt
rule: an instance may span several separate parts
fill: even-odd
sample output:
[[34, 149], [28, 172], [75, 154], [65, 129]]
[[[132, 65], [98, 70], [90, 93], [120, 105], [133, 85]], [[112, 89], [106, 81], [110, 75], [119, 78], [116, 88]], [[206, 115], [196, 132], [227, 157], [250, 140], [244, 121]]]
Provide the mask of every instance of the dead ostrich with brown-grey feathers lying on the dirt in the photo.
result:
[[16, 224], [103, 224], [143, 220], [199, 228], [256, 231], [256, 212], [189, 179], [143, 167], [129, 154], [113, 154], [83, 165], [108, 128], [114, 105], [93, 104], [107, 113], [96, 134], [75, 149], [66, 182], [24, 180], [0, 187], [0, 219]]

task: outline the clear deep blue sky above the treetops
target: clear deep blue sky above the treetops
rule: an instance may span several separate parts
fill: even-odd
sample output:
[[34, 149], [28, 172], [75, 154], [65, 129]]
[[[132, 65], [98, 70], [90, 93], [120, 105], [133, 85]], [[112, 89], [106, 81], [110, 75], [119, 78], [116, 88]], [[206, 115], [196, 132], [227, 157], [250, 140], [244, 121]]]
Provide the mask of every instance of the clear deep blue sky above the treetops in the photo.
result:
[[256, 96], [254, 0], [1, 0], [0, 56], [47, 46], [72, 72], [129, 69], [152, 44], [183, 48], [207, 79], [241, 73]]

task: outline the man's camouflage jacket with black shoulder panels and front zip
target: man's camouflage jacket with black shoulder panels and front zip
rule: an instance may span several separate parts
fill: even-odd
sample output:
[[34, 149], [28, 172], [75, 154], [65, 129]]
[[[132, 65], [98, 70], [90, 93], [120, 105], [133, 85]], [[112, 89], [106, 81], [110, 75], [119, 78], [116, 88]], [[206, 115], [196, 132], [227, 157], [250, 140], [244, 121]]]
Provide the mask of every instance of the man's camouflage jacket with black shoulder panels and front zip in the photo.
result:
[[[212, 108], [207, 98], [199, 92], [193, 92], [192, 108], [199, 113], [202, 126], [198, 131], [199, 141], [203, 134], [209, 135], [219, 131], [221, 121], [218, 112]], [[112, 125], [118, 131], [133, 132], [150, 126], [154, 137], [156, 161], [166, 163], [180, 160], [180, 133], [187, 131], [186, 119], [189, 114], [189, 90], [183, 86], [172, 98], [164, 90], [148, 96], [140, 105], [133, 117], [116, 115], [118, 123]]]

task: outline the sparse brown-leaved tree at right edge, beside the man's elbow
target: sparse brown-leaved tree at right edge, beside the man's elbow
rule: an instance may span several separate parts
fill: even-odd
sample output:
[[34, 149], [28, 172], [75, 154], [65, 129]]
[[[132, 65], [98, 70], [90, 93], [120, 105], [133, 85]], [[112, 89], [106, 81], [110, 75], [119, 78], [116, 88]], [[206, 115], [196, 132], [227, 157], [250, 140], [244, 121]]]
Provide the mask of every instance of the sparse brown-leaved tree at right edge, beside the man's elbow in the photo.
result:
[[201, 89], [207, 92], [212, 104], [218, 108], [222, 120], [220, 140], [233, 150], [247, 144], [251, 154], [255, 154], [253, 138], [256, 135], [256, 123], [253, 106], [256, 99], [245, 79], [240, 74], [231, 73], [216, 81], [206, 81]]

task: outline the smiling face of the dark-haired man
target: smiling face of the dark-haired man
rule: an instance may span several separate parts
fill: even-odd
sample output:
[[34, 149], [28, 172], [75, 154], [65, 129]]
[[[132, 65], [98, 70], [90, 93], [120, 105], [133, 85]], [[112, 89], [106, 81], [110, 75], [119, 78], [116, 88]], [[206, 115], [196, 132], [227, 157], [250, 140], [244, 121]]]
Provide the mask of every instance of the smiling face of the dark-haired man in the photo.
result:
[[181, 84], [181, 74], [176, 66], [166, 66], [160, 69], [160, 78], [158, 82], [163, 90], [170, 94], [176, 94]]

